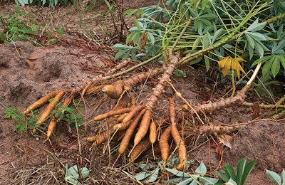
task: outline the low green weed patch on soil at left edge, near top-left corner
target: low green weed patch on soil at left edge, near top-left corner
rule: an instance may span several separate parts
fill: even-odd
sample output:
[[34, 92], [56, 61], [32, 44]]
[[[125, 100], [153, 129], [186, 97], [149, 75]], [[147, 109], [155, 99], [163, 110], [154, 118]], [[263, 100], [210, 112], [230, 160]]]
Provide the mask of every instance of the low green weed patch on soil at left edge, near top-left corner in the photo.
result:
[[30, 21], [33, 20], [28, 20], [28, 13], [21, 11], [19, 7], [16, 8], [15, 14], [0, 14], [0, 22], [4, 26], [4, 31], [0, 33], [0, 40], [5, 43], [9, 40], [31, 40], [30, 36], [41, 28], [41, 24], [30, 23]]

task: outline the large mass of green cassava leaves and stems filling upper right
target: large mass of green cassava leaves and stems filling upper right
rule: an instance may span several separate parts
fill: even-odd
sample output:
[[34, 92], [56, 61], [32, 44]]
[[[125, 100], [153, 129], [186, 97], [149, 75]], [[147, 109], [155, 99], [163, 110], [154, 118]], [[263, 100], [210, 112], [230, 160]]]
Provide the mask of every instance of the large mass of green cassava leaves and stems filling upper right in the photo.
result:
[[[278, 80], [285, 73], [285, 2], [254, 2], [167, 0], [167, 6], [157, 4], [125, 11], [125, 15], [138, 14], [139, 18], [133, 18], [135, 26], [130, 28], [125, 45], [113, 47], [118, 50], [116, 59], [131, 56], [135, 60], [145, 60], [163, 56], [158, 60], [167, 63], [165, 53], [174, 43], [174, 51], [183, 53], [183, 58], [236, 36], [230, 42], [190, 60], [190, 65], [204, 63], [209, 70], [211, 63], [224, 57], [243, 58], [247, 60], [242, 65], [245, 72], [257, 63], [263, 63], [263, 76], [269, 75]], [[190, 18], [190, 26], [180, 36]]]

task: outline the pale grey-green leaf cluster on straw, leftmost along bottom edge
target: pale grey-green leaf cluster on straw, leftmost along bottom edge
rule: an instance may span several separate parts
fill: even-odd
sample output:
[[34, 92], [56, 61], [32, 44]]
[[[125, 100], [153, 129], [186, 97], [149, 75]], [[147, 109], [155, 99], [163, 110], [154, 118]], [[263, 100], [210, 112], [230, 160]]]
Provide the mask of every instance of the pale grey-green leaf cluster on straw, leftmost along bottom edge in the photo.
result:
[[83, 179], [86, 179], [89, 174], [90, 170], [86, 167], [78, 170], [77, 165], [68, 168], [68, 165], [66, 164], [66, 176], [64, 177], [64, 180], [68, 184], [83, 185], [81, 181], [83, 181]]

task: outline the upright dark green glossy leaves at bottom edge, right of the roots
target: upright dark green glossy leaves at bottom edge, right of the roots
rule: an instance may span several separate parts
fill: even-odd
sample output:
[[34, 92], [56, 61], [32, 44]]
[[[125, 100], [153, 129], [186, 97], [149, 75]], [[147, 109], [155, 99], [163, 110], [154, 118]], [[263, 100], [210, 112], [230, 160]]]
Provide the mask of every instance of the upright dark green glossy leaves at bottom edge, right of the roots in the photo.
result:
[[257, 159], [252, 160], [251, 162], [247, 162], [247, 157], [239, 160], [237, 163], [237, 174], [234, 172], [234, 168], [229, 165], [224, 165], [224, 173], [216, 171], [219, 175], [222, 183], [231, 183], [233, 185], [244, 185], [247, 177], [252, 172], [255, 164], [257, 164]]

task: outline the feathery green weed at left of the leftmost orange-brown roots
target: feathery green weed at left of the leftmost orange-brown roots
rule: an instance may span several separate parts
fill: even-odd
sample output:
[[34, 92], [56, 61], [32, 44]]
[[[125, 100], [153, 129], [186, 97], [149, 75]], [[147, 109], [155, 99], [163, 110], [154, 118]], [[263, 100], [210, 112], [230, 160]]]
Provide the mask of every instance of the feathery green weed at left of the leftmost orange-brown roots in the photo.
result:
[[38, 118], [38, 116], [35, 115], [36, 112], [38, 112], [38, 110], [34, 110], [31, 112], [31, 114], [33, 115], [32, 117], [27, 117], [23, 114], [23, 112], [21, 112], [21, 110], [11, 106], [6, 107], [6, 109], [4, 110], [4, 115], [6, 118], [15, 120], [16, 125], [14, 126], [14, 129], [16, 129], [16, 131], [21, 134], [27, 129], [33, 129], [33, 127], [35, 127], [36, 120]]

